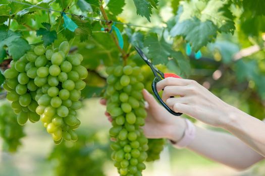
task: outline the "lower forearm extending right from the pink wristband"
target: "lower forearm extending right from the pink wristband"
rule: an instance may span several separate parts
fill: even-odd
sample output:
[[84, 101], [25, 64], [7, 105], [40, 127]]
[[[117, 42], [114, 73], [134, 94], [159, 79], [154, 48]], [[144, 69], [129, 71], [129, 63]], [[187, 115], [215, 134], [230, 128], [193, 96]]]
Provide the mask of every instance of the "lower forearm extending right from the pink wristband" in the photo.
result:
[[196, 127], [196, 137], [187, 148], [237, 169], [244, 169], [263, 158], [230, 134], [199, 127]]

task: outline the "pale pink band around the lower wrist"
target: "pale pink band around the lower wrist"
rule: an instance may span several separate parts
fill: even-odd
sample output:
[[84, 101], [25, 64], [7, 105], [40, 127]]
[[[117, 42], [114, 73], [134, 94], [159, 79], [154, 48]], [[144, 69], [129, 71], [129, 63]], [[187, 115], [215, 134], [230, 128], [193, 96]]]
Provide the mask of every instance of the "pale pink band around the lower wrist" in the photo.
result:
[[187, 126], [183, 137], [177, 142], [170, 140], [171, 143], [177, 148], [184, 148], [188, 146], [195, 138], [195, 126], [188, 119], [185, 119], [185, 122]]

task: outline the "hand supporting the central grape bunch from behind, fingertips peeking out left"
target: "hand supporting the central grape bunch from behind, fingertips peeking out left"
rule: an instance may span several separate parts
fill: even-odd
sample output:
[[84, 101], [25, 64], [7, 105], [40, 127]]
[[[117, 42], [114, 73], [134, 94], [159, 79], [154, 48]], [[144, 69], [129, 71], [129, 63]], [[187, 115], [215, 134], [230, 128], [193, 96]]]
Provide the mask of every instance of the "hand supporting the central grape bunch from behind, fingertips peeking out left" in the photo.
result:
[[[168, 138], [178, 141], [185, 129], [184, 119], [170, 114], [164, 107], [156, 102], [151, 94], [143, 90], [143, 96], [147, 102], [144, 134], [147, 138]], [[105, 105], [105, 100], [100, 103]], [[110, 121], [112, 118], [109, 113], [105, 113]]]

